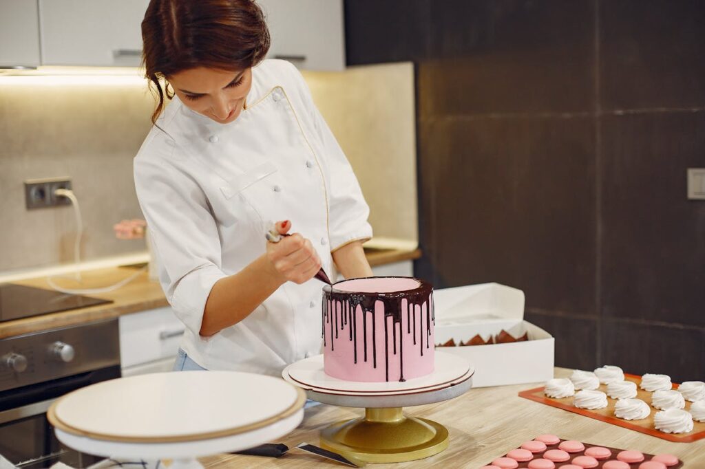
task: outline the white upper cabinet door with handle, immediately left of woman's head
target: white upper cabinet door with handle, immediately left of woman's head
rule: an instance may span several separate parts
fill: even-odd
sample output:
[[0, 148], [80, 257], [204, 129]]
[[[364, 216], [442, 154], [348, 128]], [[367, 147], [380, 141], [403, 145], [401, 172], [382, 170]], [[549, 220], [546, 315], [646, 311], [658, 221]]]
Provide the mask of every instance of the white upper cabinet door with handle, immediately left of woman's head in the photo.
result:
[[149, 0], [39, 0], [42, 65], [136, 66]]

